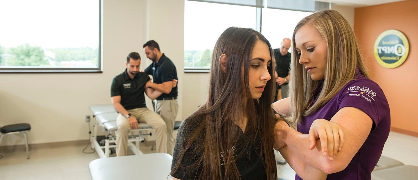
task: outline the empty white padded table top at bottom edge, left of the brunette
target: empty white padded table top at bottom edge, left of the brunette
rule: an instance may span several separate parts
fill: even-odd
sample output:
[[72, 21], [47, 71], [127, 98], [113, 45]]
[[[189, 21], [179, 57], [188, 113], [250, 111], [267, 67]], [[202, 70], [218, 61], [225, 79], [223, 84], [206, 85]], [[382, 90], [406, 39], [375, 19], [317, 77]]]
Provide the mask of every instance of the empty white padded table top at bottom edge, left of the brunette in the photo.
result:
[[166, 180], [172, 159], [166, 153], [101, 158], [89, 170], [92, 180]]

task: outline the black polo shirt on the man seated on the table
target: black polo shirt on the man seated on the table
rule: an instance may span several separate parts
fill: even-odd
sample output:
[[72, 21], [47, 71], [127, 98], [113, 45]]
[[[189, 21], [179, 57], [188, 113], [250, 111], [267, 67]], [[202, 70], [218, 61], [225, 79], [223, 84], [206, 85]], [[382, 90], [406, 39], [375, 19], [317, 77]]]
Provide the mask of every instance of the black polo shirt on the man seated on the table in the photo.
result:
[[120, 104], [126, 109], [147, 107], [145, 104], [145, 84], [150, 80], [148, 74], [138, 72], [130, 79], [126, 69], [113, 78], [110, 96], [120, 96]]

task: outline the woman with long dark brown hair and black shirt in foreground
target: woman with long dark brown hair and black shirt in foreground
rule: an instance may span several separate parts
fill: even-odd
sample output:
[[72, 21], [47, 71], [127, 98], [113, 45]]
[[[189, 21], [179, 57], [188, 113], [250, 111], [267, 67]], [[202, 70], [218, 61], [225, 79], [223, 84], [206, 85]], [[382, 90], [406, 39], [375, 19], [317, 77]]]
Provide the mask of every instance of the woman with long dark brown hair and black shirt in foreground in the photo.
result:
[[[209, 98], [178, 131], [173, 179], [277, 179], [272, 61], [261, 33], [236, 27], [222, 33], [212, 55]], [[326, 177], [314, 168], [306, 172]]]

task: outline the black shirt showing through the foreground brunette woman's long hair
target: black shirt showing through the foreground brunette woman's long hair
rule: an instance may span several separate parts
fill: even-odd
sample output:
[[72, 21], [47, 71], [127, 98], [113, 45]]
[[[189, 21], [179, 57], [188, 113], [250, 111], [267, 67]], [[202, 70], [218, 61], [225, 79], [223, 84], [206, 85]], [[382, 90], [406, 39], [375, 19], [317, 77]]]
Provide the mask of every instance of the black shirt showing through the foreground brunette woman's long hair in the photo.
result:
[[[234, 124], [235, 125], [235, 124]], [[200, 124], [195, 122], [194, 120], [186, 119], [182, 124], [180, 129], [178, 130], [177, 138], [176, 138], [176, 145], [174, 146], [174, 153], [173, 153], [173, 162], [171, 164], [171, 169], [178, 162], [178, 158], [180, 156], [181, 148], [186, 146], [185, 138], [186, 134], [192, 133], [194, 129], [196, 129]], [[236, 125], [235, 125], [236, 126]], [[239, 131], [239, 137], [243, 136], [242, 131]], [[238, 139], [237, 145], [230, 147], [229, 150], [233, 151], [233, 156], [240, 155], [235, 157], [235, 163], [237, 165], [237, 169], [240, 172], [241, 179], [243, 180], [265, 180], [267, 179], [267, 175], [265, 173], [264, 167], [264, 158], [261, 157], [261, 139], [259, 137], [255, 138], [253, 143], [250, 143], [249, 147], [244, 147], [245, 139]], [[180, 168], [172, 174], [172, 177], [176, 177], [181, 180], [194, 180], [199, 177], [201, 169], [196, 167], [189, 167], [192, 165], [191, 162], [197, 162], [199, 155], [201, 152], [196, 152], [194, 147], [196, 144], [193, 144], [185, 153], [183, 161], [181, 162]], [[201, 146], [201, 145], [199, 145]], [[246, 152], [242, 153], [242, 150], [246, 150]], [[222, 148], [219, 148], [220, 155], [219, 161], [221, 162], [221, 169], [222, 174], [224, 175], [224, 160]], [[182, 168], [183, 167], [183, 168]]]

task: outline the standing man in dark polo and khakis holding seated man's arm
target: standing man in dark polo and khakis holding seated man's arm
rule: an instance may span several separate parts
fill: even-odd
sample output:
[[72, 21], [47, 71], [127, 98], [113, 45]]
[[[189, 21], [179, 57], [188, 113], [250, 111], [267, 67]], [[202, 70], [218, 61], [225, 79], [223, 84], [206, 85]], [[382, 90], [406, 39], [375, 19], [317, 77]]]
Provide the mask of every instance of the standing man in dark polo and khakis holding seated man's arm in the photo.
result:
[[145, 73], [152, 75], [154, 79], [148, 87], [163, 92], [154, 100], [154, 110], [167, 124], [167, 153], [173, 155], [173, 129], [178, 112], [177, 86], [172, 87], [173, 79], [178, 80], [176, 66], [164, 53], [161, 53], [160, 46], [154, 40], [145, 43], [143, 48], [147, 58], [153, 61], [145, 69]]

